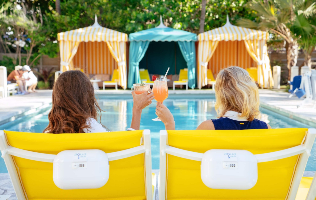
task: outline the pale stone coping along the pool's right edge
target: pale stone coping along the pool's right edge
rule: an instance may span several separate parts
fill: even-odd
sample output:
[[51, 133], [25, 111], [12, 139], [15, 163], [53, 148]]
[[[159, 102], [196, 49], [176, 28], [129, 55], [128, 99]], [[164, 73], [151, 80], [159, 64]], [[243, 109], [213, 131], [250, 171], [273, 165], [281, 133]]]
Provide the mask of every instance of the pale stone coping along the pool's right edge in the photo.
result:
[[260, 107], [262, 107], [264, 109], [267, 109], [267, 110], [270, 110], [272, 112], [275, 112], [277, 114], [283, 115], [284, 117], [288, 117], [290, 119], [294, 119], [294, 120], [299, 121], [301, 123], [304, 123], [304, 124], [306, 124], [308, 126], [316, 127], [315, 126], [316, 125], [316, 120], [313, 119], [313, 118], [305, 117], [303, 115], [296, 114], [294, 112], [285, 110], [285, 109], [277, 107], [277, 106], [272, 106], [270, 104], [263, 103], [263, 102], [260, 102]]

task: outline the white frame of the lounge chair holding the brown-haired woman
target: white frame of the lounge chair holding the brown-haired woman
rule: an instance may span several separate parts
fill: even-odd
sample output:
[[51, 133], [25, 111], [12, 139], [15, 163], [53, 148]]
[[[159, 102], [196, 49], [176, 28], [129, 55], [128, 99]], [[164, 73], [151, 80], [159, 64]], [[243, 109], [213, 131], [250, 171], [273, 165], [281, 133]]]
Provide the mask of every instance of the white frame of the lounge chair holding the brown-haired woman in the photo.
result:
[[[122, 151], [116, 151], [107, 153], [109, 161], [119, 160], [127, 157], [136, 156], [138, 154], [145, 154], [145, 181], [146, 181], [146, 199], [153, 200], [152, 191], [152, 170], [151, 170], [151, 148], [150, 148], [150, 130], [145, 129], [143, 131], [144, 144], [141, 146], [125, 149]], [[33, 151], [27, 151], [18, 149], [13, 146], [9, 146], [3, 130], [0, 130], [0, 150], [2, 153], [5, 165], [7, 166], [9, 176], [11, 178], [14, 191], [18, 200], [27, 200], [24, 195], [23, 188], [21, 186], [20, 178], [15, 169], [15, 164], [12, 156], [21, 157], [29, 160], [35, 160], [40, 162], [53, 163], [56, 155], [37, 153]]]

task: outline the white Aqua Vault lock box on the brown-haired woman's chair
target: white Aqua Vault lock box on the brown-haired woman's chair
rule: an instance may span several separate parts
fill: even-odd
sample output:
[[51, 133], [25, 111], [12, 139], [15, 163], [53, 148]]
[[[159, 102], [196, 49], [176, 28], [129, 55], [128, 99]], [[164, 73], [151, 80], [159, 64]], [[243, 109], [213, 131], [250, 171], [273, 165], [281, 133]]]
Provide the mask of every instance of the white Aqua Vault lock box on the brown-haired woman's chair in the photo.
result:
[[109, 160], [99, 149], [65, 150], [53, 162], [53, 180], [64, 190], [94, 189], [109, 179]]

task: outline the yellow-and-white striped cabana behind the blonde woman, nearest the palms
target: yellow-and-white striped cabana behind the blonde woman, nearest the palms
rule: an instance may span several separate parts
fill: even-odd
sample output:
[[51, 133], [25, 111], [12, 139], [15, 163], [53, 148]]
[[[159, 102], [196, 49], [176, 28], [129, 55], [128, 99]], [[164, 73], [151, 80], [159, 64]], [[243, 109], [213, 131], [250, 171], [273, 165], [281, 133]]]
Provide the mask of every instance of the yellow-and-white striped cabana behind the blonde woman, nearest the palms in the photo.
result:
[[266, 41], [269, 33], [234, 26], [224, 26], [198, 35], [197, 81], [198, 88], [207, 85], [207, 69], [216, 77], [220, 69], [239, 66], [257, 67], [258, 84], [262, 88], [273, 86], [270, 59]]

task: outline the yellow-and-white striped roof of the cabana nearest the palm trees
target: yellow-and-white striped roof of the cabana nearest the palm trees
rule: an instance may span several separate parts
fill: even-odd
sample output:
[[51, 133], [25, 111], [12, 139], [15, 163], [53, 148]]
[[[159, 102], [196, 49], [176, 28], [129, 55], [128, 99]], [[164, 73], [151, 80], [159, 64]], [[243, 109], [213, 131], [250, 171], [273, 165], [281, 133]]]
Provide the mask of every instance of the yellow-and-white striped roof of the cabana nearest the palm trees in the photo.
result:
[[268, 32], [258, 31], [255, 29], [234, 26], [230, 24], [228, 15], [227, 22], [224, 26], [200, 33], [198, 35], [199, 41], [241, 41], [241, 40], [267, 40]]

